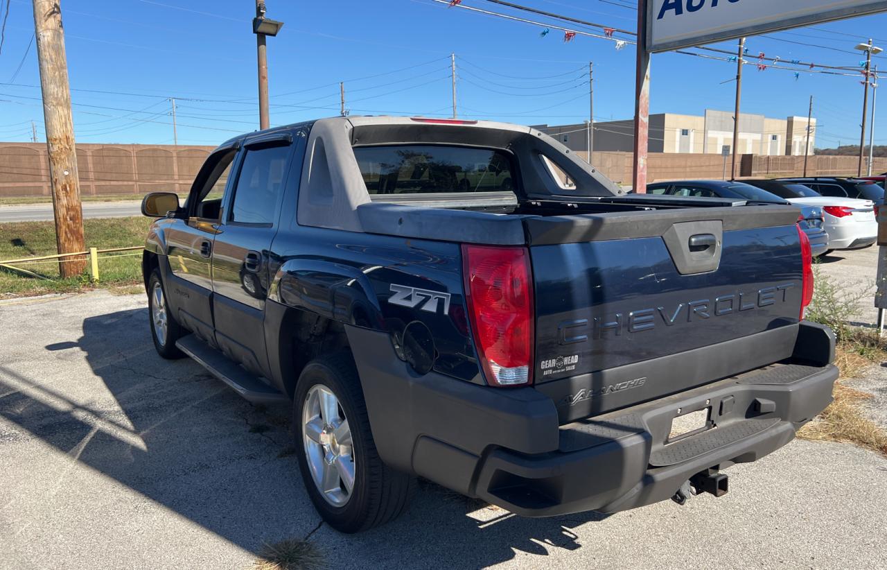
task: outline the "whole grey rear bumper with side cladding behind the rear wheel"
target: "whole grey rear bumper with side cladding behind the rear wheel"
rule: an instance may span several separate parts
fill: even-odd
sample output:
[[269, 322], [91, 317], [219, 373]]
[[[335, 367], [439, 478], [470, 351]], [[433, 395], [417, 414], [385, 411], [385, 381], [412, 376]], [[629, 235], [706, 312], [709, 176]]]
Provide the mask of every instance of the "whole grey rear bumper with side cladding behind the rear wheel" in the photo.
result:
[[[834, 336], [804, 322], [789, 361], [558, 425], [553, 400], [532, 388], [413, 375], [387, 335], [348, 334], [382, 459], [528, 517], [624, 511], [700, 471], [756, 461], [828, 406], [837, 378]], [[665, 444], [679, 409], [703, 408], [716, 427]]]

